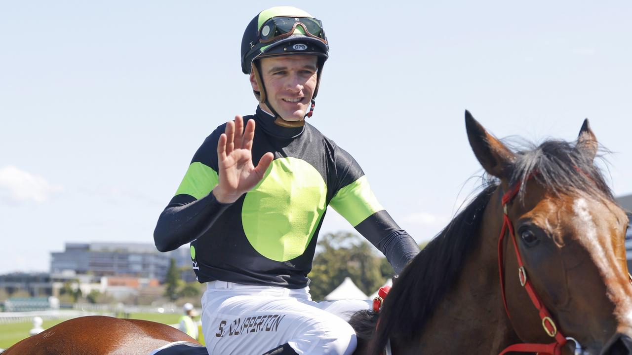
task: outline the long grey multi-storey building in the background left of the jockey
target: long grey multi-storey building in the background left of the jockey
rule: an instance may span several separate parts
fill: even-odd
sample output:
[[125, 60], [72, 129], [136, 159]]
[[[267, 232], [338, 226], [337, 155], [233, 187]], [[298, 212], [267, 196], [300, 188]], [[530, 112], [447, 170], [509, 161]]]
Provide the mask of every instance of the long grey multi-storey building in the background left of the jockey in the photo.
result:
[[161, 253], [150, 243], [66, 243], [51, 253], [51, 274], [73, 270], [76, 274], [131, 276], [164, 281], [171, 258], [183, 268], [185, 281], [195, 280], [188, 248]]

